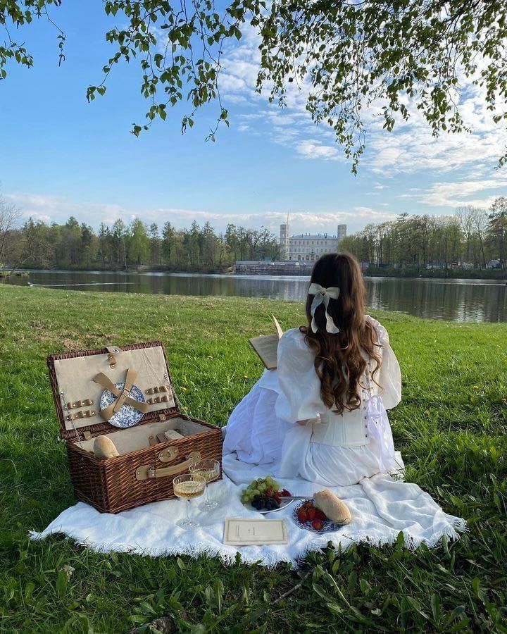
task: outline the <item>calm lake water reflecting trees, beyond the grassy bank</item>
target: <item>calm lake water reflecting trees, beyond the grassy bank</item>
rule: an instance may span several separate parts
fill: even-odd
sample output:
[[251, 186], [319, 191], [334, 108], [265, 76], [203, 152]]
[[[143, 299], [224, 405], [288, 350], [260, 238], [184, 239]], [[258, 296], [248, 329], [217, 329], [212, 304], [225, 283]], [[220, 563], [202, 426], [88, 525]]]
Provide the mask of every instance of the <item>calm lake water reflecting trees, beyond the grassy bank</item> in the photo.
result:
[[[308, 278], [190, 273], [31, 271], [18, 284], [66, 290], [270, 297], [301, 301]], [[372, 309], [451, 321], [507, 321], [507, 286], [499, 280], [365, 278]]]

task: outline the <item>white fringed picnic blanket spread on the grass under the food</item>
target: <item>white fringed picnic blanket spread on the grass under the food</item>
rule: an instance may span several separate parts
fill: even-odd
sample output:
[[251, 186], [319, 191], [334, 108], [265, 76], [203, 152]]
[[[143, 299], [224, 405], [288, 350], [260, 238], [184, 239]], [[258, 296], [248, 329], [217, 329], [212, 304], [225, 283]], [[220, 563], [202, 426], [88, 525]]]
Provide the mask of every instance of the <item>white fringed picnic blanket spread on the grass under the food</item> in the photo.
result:
[[[186, 512], [186, 502], [177, 499], [154, 502], [118, 514], [99, 513], [92, 506], [78, 502], [63, 511], [49, 526], [30, 537], [42, 540], [54, 533], [64, 533], [79, 544], [96, 552], [132, 552], [152, 557], [164, 555], [200, 554], [218, 555], [226, 563], [235, 561], [237, 552], [245, 563], [259, 562], [275, 566], [287, 561], [297, 566], [307, 552], [321, 549], [332, 542], [346, 549], [354, 542], [373, 545], [389, 544], [401, 532], [407, 547], [421, 543], [429, 547], [437, 544], [443, 535], [451, 539], [465, 530], [465, 521], [448, 515], [430, 495], [418, 485], [405, 483], [388, 475], [375, 475], [349, 487], [334, 487], [334, 492], [349, 506], [352, 522], [336, 533], [318, 535], [299, 528], [292, 521], [296, 502], [287, 509], [268, 514], [268, 518], [287, 518], [288, 545], [232, 547], [223, 545], [225, 517], [252, 517], [261, 515], [249, 511], [240, 500], [244, 485], [254, 478], [268, 475], [265, 467], [252, 466], [225, 456], [224, 479], [209, 487], [210, 496], [220, 500], [213, 511], [199, 511], [198, 502], [192, 501], [192, 514], [201, 527], [185, 531], [176, 522]], [[228, 477], [227, 477], [228, 476]], [[293, 495], [313, 495], [322, 485], [306, 480], [282, 480], [280, 484]]]

